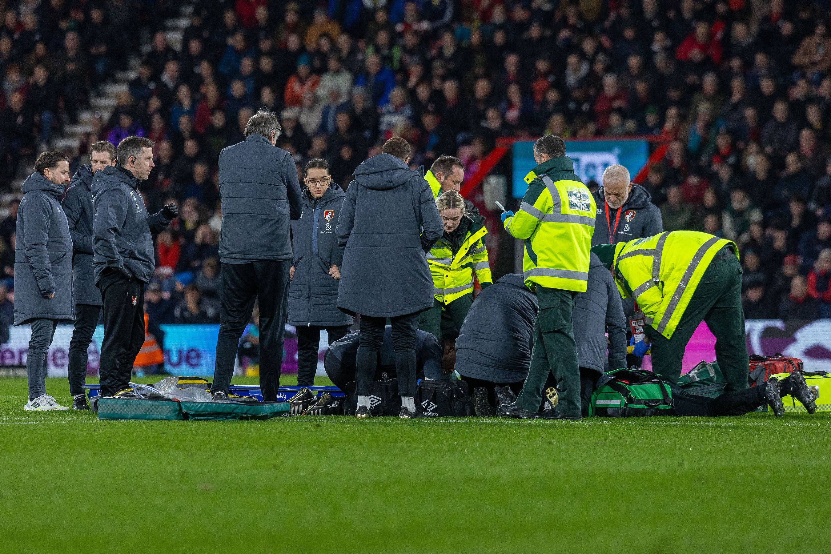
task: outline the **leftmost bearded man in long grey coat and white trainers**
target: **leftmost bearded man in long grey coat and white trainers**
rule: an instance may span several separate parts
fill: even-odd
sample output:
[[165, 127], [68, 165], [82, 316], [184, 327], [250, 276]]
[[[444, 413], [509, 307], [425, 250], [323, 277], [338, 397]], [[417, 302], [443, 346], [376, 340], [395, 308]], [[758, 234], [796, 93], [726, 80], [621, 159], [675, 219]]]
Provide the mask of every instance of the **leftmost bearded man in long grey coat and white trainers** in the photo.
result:
[[14, 325], [32, 324], [23, 409], [66, 409], [47, 395], [46, 360], [58, 321], [74, 317], [72, 239], [60, 203], [69, 160], [62, 152], [43, 152], [35, 170], [23, 182], [14, 249]]

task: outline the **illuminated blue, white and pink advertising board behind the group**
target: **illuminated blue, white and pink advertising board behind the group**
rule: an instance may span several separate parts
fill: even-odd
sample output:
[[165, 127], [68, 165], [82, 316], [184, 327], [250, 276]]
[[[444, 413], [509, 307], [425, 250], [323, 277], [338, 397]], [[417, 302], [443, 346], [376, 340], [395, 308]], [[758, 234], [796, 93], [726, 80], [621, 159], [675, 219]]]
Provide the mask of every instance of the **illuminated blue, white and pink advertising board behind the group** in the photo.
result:
[[[218, 325], [163, 325], [165, 331], [165, 365], [177, 375], [214, 375], [214, 354]], [[831, 372], [831, 319], [816, 321], [748, 320], [747, 347], [750, 354], [782, 353], [804, 360], [805, 368]], [[12, 327], [10, 340], [0, 346], [0, 365], [25, 365], [29, 343], [29, 326]], [[89, 350], [87, 373], [98, 374], [103, 326], [96, 328]], [[66, 376], [71, 325], [59, 325], [49, 349], [47, 364], [50, 377]], [[317, 375], [323, 371], [323, 353], [327, 347], [326, 331], [321, 332]], [[283, 373], [297, 373], [297, 338], [293, 326], [286, 326]], [[702, 323], [686, 347], [684, 371], [701, 360], [715, 360], [715, 336]], [[649, 369], [649, 356], [644, 360]]]

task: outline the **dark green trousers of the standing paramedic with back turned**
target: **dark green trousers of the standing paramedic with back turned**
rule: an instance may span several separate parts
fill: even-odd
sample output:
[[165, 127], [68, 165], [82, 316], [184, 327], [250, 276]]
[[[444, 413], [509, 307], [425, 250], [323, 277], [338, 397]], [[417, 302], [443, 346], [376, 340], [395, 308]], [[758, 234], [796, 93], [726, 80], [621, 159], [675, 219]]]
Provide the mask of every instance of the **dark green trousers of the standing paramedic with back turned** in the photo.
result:
[[558, 411], [570, 416], [581, 415], [580, 368], [572, 328], [575, 297], [577, 292], [537, 286], [539, 312], [534, 322], [531, 368], [517, 397], [517, 405], [522, 409], [538, 411], [550, 372], [557, 380]]

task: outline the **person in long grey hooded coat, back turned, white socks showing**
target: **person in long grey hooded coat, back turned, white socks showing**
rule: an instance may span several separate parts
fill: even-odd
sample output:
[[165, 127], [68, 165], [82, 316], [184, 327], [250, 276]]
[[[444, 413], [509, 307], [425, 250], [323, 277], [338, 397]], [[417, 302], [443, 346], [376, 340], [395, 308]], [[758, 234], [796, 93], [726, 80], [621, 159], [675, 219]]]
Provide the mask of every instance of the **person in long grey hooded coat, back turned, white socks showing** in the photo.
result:
[[401, 417], [416, 417], [418, 314], [433, 306], [427, 252], [444, 231], [427, 182], [407, 167], [406, 140], [387, 140], [383, 153], [355, 169], [347, 189], [337, 241], [344, 248], [337, 307], [361, 314], [357, 353], [356, 416], [370, 416], [369, 392], [376, 373], [386, 318], [392, 323]]

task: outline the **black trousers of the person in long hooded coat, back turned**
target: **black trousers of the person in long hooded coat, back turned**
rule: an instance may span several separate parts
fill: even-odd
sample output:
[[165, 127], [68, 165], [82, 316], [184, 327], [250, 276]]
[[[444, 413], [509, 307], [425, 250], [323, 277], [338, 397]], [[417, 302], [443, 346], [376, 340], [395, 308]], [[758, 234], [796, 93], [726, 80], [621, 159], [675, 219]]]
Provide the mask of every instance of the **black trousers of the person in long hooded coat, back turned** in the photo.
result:
[[[391, 317], [392, 348], [396, 351], [398, 394], [416, 395], [416, 329], [418, 314]], [[378, 366], [378, 351], [384, 342], [386, 317], [361, 316], [361, 339], [358, 343], [356, 388], [359, 396], [369, 396], [370, 385]]]

